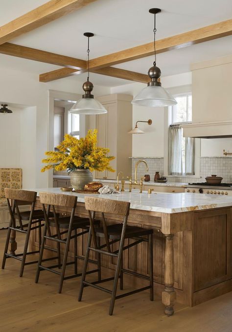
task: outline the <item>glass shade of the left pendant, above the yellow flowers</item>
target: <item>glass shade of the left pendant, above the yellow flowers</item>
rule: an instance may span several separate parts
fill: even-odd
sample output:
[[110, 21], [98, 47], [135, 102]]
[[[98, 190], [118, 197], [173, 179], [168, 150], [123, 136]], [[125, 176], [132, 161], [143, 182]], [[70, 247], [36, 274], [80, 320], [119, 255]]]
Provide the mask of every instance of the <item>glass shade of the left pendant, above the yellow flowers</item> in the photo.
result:
[[107, 113], [105, 107], [94, 98], [81, 98], [70, 109], [75, 114], [103, 114]]

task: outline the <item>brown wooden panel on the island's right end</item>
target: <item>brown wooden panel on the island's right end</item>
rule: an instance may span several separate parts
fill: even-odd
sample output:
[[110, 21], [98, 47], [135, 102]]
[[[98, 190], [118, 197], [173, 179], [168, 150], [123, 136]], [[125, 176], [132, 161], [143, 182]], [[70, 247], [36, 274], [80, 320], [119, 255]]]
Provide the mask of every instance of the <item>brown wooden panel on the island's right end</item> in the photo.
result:
[[231, 222], [231, 209], [194, 213], [194, 291], [232, 278]]

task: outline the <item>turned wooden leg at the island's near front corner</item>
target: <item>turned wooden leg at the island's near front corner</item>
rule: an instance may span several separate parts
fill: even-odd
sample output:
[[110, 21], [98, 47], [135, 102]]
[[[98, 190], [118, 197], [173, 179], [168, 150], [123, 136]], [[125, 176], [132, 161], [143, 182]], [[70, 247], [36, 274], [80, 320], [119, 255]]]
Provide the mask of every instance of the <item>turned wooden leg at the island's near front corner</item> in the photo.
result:
[[174, 290], [174, 252], [173, 234], [165, 236], [164, 254], [164, 291], [162, 292], [162, 303], [165, 306], [164, 313], [171, 316], [174, 313], [173, 306], [176, 302], [176, 292]]

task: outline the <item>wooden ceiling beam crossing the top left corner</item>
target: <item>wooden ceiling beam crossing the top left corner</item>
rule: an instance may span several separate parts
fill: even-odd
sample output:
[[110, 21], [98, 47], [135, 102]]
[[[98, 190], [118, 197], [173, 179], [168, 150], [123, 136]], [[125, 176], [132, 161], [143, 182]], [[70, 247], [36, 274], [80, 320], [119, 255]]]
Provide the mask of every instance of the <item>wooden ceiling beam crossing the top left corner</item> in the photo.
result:
[[17, 19], [0, 26], [0, 44], [59, 19], [96, 0], [50, 0]]

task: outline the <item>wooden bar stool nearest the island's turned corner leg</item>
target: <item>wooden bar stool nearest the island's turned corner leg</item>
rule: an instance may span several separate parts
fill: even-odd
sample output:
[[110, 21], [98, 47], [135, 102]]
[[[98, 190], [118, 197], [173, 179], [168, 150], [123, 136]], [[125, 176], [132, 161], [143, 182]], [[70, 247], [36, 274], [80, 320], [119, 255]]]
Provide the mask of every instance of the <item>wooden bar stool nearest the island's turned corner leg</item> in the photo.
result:
[[[78, 301], [81, 301], [82, 294], [83, 294], [83, 288], [85, 286], [92, 286], [94, 288], [97, 288], [99, 290], [103, 290], [107, 293], [111, 294], [111, 303], [110, 303], [110, 310], [109, 314], [113, 314], [115, 300], [120, 299], [122, 297], [138, 293], [140, 291], [143, 291], [145, 289], [150, 289], [150, 300], [153, 301], [153, 243], [152, 243], [152, 234], [153, 230], [150, 229], [144, 229], [137, 226], [128, 226], [127, 225], [127, 218], [130, 210], [130, 203], [129, 202], [123, 202], [123, 201], [116, 201], [111, 199], [104, 199], [104, 198], [97, 198], [97, 197], [85, 197], [85, 207], [86, 210], [89, 211], [89, 217], [90, 217], [90, 233], [88, 238], [88, 244], [87, 244], [87, 250], [86, 250], [86, 256], [84, 261], [84, 267], [83, 267], [83, 274], [81, 279], [81, 288], [79, 291], [79, 298]], [[95, 213], [100, 212], [102, 213], [102, 226], [103, 227], [96, 227], [94, 224], [94, 218]], [[120, 215], [123, 217], [123, 223], [122, 224], [113, 224], [110, 226], [106, 225], [104, 213], [111, 213], [115, 214], [117, 217]], [[144, 237], [147, 236], [147, 237]], [[105, 239], [105, 244], [99, 246], [97, 241], [97, 237], [103, 237]], [[93, 238], [93, 246], [91, 246], [91, 241]], [[134, 239], [135, 242], [130, 243], [126, 246], [124, 246], [124, 239], [130, 238]], [[111, 251], [111, 244], [119, 241], [119, 249], [112, 252]], [[148, 242], [149, 247], [149, 277], [145, 275], [141, 275], [137, 272], [131, 272], [129, 270], [125, 270], [122, 268], [122, 255], [123, 251], [126, 249], [131, 248], [134, 245], [137, 245], [143, 241]], [[106, 250], [102, 250], [103, 248], [107, 248]], [[115, 276], [112, 278], [107, 279], [101, 279], [100, 281], [95, 281], [93, 283], [86, 281], [86, 274], [87, 274], [87, 264], [88, 259], [90, 255], [90, 251], [94, 251], [99, 254], [104, 254], [110, 257], [116, 257], [117, 258], [117, 264], [116, 264], [116, 271]], [[145, 286], [133, 291], [129, 291], [124, 294], [116, 295], [117, 290], [117, 284], [118, 279], [120, 278], [120, 289], [123, 288], [122, 278], [123, 273], [131, 274], [133, 276], [143, 278], [145, 280], [149, 280], [149, 286]], [[106, 281], [114, 280], [113, 289], [109, 290], [107, 288], [98, 286], [99, 283], [104, 283]]]

